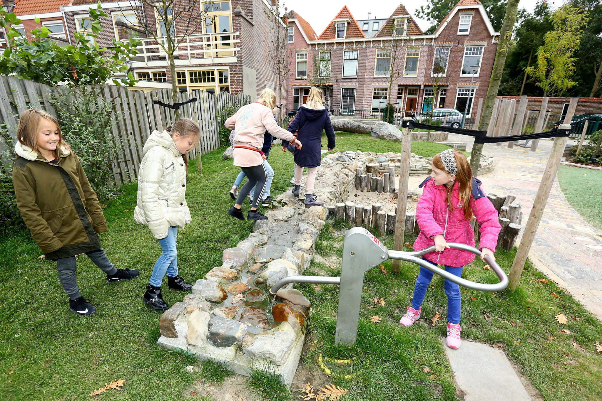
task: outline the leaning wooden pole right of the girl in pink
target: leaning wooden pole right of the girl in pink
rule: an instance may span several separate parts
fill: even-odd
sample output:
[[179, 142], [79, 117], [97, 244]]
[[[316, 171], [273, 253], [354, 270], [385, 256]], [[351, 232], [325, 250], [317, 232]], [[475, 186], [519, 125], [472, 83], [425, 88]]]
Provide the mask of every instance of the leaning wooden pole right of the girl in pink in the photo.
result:
[[[568, 129], [566, 124], [571, 123], [573, 115], [575, 114], [575, 109], [577, 108], [578, 100], [578, 97], [571, 97], [571, 102], [569, 103], [568, 111], [566, 112], [564, 124], [560, 125], [560, 129]], [[512, 263], [512, 268], [510, 269], [509, 287], [513, 291], [517, 288], [518, 281], [520, 280], [521, 273], [523, 272], [525, 261], [527, 260], [527, 256], [529, 256], [529, 251], [531, 249], [531, 245], [533, 244], [533, 239], [535, 239], [535, 234], [537, 233], [539, 222], [541, 221], [541, 216], [544, 214], [545, 204], [550, 196], [550, 190], [554, 185], [554, 179], [556, 179], [556, 173], [558, 171], [558, 166], [560, 165], [560, 160], [562, 160], [562, 153], [564, 153], [567, 139], [568, 136], [560, 136], [559, 138], [554, 139], [550, 158], [545, 165], [544, 174], [541, 177], [541, 184], [539, 184], [539, 189], [537, 191], [537, 195], [535, 195], [531, 213], [529, 213], [529, 221], [527, 221], [523, 238], [521, 239], [521, 244], [518, 247], [517, 255], [514, 257], [514, 262]]]

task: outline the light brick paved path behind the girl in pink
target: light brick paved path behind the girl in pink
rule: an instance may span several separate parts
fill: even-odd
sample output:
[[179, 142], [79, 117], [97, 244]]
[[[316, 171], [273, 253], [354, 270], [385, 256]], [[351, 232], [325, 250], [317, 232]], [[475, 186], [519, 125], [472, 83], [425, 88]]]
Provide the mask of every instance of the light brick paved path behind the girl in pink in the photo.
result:
[[[473, 145], [471, 136], [450, 133], [449, 140], [466, 142], [468, 152]], [[479, 177], [483, 181], [483, 189], [486, 193], [517, 195], [523, 203], [523, 230], [551, 145], [552, 141], [540, 140], [535, 153], [516, 146], [508, 149], [506, 144], [501, 147], [485, 144], [483, 148], [485, 155], [494, 157], [494, 170]], [[557, 180], [550, 192], [529, 259], [535, 268], [556, 281], [602, 320], [602, 234], [569, 205]]]

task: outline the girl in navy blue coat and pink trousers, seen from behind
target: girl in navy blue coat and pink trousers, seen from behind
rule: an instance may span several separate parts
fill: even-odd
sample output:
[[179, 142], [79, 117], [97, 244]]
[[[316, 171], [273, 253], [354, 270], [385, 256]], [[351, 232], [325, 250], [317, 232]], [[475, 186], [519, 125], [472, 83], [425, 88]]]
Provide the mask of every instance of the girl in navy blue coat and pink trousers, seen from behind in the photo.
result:
[[[303, 147], [295, 149], [295, 185], [293, 194], [299, 196], [303, 167], [308, 168], [307, 183], [305, 186], [305, 207], [322, 206], [324, 203], [317, 200], [314, 194], [315, 173], [321, 164], [321, 139], [322, 132], [326, 130], [328, 137], [328, 151], [335, 147], [335, 130], [330, 123], [328, 109], [323, 105], [322, 91], [316, 87], [309, 90], [307, 101], [299, 108], [294, 120], [288, 125], [288, 131], [297, 132], [297, 139], [303, 142]], [[282, 151], [287, 151], [287, 141], [282, 141]]]

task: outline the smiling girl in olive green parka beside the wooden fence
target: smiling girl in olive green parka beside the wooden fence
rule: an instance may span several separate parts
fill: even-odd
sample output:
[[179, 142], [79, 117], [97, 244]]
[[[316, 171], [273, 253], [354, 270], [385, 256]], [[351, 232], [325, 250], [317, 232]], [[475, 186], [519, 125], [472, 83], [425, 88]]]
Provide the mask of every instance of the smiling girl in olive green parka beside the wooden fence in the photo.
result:
[[107, 282], [137, 277], [116, 269], [96, 233], [107, 231], [101, 205], [79, 158], [61, 138], [58, 121], [29, 109], [19, 118], [13, 185], [17, 206], [31, 237], [48, 260], [57, 261], [58, 280], [69, 295], [69, 309], [81, 316], [96, 308], [84, 299], [75, 279], [75, 256], [85, 253], [107, 273]]

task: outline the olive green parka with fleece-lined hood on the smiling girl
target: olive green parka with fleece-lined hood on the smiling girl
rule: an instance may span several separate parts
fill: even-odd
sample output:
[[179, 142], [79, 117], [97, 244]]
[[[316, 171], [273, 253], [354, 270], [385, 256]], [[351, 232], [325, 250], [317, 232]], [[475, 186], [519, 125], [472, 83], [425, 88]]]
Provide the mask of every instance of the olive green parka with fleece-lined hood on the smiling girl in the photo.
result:
[[101, 205], [79, 159], [61, 146], [57, 164], [17, 142], [13, 186], [31, 237], [46, 259], [101, 249], [107, 231]]

